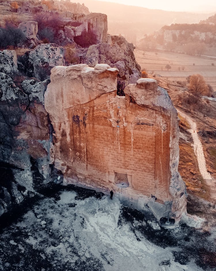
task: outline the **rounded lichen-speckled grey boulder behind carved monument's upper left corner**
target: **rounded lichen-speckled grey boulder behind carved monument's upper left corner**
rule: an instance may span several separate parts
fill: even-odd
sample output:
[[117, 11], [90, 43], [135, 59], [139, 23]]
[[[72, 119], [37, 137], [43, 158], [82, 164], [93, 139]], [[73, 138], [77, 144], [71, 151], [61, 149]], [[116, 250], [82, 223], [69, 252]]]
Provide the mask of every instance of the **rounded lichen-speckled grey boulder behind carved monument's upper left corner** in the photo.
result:
[[39, 80], [49, 79], [54, 66], [64, 65], [63, 48], [54, 43], [40, 44], [22, 57], [26, 75]]

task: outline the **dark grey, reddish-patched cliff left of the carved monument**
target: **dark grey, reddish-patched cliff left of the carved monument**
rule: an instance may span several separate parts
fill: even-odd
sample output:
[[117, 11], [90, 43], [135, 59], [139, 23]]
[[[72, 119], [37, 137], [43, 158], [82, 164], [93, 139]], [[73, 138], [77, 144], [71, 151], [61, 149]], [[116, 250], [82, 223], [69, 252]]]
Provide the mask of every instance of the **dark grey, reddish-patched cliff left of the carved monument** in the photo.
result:
[[24, 80], [18, 87], [11, 77], [17, 71], [16, 52], [4, 50], [0, 59], [1, 215], [50, 181], [46, 150], [52, 146], [52, 127], [43, 106], [50, 81]]

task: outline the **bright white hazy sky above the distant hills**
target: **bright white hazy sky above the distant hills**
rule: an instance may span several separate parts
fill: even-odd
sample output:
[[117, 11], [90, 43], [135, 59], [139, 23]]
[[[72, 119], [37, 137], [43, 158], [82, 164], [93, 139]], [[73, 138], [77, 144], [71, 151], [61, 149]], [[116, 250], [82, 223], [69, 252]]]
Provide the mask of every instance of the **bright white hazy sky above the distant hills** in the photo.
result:
[[145, 8], [173, 10], [173, 11], [194, 11], [194, 12], [216, 12], [215, 0], [101, 0], [107, 2], [121, 3], [125, 5], [136, 5]]

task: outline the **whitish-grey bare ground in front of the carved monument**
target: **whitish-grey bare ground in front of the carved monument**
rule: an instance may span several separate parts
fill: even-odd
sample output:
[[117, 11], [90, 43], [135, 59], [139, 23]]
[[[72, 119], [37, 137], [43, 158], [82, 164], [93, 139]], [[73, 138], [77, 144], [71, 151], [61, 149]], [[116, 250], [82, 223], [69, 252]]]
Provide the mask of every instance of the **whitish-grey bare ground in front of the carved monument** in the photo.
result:
[[[75, 192], [65, 191], [62, 192], [58, 201], [50, 198], [43, 199], [39, 205], [24, 215], [22, 221], [3, 233], [1, 240], [6, 240], [7, 249], [16, 248], [16, 255], [30, 258], [31, 256], [28, 255], [29, 252], [25, 248], [27, 245], [30, 245], [35, 251], [41, 250], [41, 259], [52, 260], [54, 265], [52, 269], [44, 266], [40, 269], [43, 271], [202, 270], [194, 263], [194, 260], [190, 260], [187, 264], [174, 261], [172, 252], [177, 248], [171, 246], [162, 248], [151, 243], [141, 232], [135, 231], [134, 234], [128, 223], [118, 225], [122, 205], [117, 198], [110, 200], [109, 197], [104, 196], [101, 200], [94, 197], [75, 200], [75, 196]], [[136, 227], [137, 223], [149, 224], [157, 234], [162, 231], [156, 220], [145, 222], [134, 219], [133, 227]], [[13, 229], [18, 229], [23, 237], [20, 239], [15, 236]], [[184, 230], [179, 227], [167, 231], [170, 236], [184, 233]], [[27, 237], [24, 233], [27, 233]], [[55, 240], [55, 243], [57, 242], [55, 245], [52, 241], [54, 236], [57, 236], [58, 239]], [[0, 249], [0, 255], [2, 252], [3, 250]], [[12, 263], [10, 261], [5, 263], [5, 259], [2, 257], [0, 256], [0, 270], [15, 270]], [[90, 262], [90, 267], [74, 269], [80, 259], [85, 263]], [[102, 263], [101, 268], [96, 269], [95, 261], [92, 259], [98, 259]], [[168, 261], [168, 264], [163, 264], [164, 261]], [[59, 263], [62, 269], [58, 269]], [[65, 264], [71, 266], [71, 269], [65, 269]], [[31, 264], [28, 263], [28, 265], [31, 267]], [[20, 271], [29, 270], [23, 268], [21, 263], [17, 264], [16, 268]], [[36, 269], [32, 267], [31, 270]]]

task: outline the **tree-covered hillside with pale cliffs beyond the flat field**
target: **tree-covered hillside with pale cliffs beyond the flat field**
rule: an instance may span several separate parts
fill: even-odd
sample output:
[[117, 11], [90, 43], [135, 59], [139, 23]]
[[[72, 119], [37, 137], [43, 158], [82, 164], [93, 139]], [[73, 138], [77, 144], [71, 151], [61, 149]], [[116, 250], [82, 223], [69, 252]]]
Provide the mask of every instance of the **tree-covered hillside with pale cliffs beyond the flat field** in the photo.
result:
[[139, 49], [155, 50], [162, 48], [167, 51], [186, 53], [188, 55], [215, 56], [216, 25], [215, 15], [199, 23], [175, 23], [164, 25], [154, 34], [146, 35], [138, 42]]

